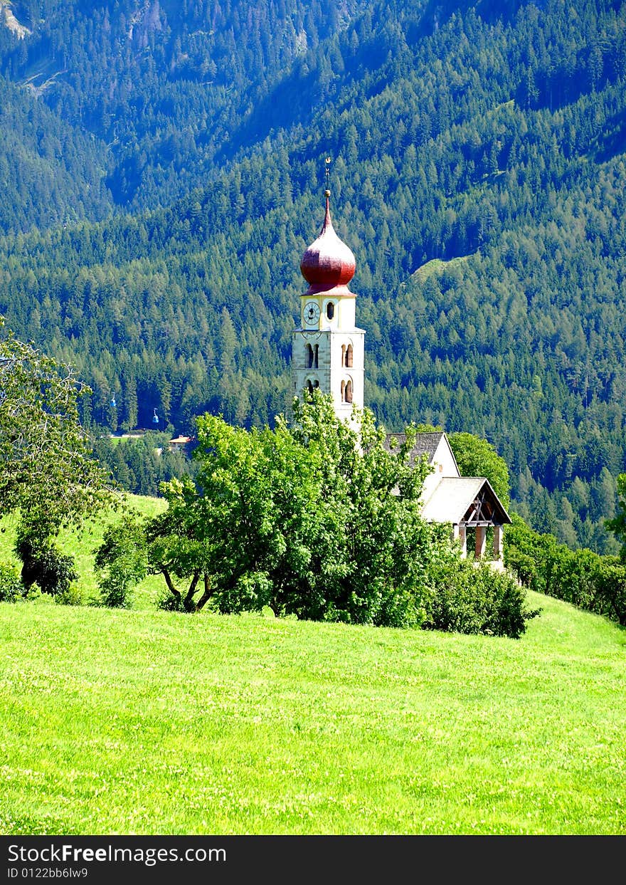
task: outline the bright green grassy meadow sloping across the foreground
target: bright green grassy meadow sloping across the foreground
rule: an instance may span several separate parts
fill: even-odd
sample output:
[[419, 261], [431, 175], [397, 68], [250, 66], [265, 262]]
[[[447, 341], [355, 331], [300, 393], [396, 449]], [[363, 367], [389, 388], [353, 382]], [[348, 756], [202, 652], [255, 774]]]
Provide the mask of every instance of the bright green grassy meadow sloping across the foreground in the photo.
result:
[[[66, 542], [87, 598], [98, 532]], [[537, 595], [520, 640], [190, 616], [158, 582], [0, 604], [0, 833], [626, 833], [615, 624]]]

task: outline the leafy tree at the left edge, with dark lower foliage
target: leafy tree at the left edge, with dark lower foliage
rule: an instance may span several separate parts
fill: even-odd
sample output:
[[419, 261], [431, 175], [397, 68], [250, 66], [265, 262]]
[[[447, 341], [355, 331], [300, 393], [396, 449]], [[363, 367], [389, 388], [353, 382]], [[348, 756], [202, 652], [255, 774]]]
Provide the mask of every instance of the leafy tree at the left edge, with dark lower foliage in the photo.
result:
[[109, 497], [80, 426], [84, 392], [70, 367], [11, 333], [0, 339], [0, 516], [19, 512], [23, 579], [50, 593], [75, 577], [51, 536]]

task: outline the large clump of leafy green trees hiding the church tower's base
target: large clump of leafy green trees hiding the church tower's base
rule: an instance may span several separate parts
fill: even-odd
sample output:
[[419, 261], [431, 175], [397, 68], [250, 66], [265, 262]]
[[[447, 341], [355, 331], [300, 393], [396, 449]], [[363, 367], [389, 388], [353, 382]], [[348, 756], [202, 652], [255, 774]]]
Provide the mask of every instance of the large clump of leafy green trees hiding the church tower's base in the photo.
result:
[[[391, 454], [370, 412], [360, 417], [358, 435], [316, 395], [294, 402], [292, 427], [198, 419], [196, 485], [166, 484], [168, 511], [146, 533], [176, 607], [214, 597], [223, 612], [270, 605], [315, 620], [423, 622], [429, 566], [452, 556], [441, 528], [420, 517], [428, 468], [408, 466], [410, 431]], [[174, 578], [187, 579], [185, 593]]]

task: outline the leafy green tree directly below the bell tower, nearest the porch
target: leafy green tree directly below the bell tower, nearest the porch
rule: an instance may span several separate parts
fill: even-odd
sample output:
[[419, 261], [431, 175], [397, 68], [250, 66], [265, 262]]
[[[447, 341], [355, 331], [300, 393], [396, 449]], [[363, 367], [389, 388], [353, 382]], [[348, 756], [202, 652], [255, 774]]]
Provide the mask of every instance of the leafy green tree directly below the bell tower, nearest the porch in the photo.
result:
[[[392, 453], [371, 412], [355, 414], [358, 435], [335, 416], [328, 397], [294, 402], [294, 438], [317, 459], [318, 500], [339, 520], [327, 563], [326, 617], [418, 626], [432, 592], [432, 564], [450, 555], [445, 528], [421, 518], [430, 468], [425, 459], [409, 466], [415, 428]], [[318, 556], [327, 549], [323, 539]]]

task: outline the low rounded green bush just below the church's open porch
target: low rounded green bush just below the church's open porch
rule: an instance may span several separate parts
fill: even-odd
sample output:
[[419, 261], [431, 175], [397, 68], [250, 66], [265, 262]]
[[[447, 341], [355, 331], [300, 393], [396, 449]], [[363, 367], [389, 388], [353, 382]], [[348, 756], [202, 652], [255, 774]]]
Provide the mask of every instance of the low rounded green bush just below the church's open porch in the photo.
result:
[[525, 591], [506, 573], [469, 560], [448, 562], [436, 584], [424, 627], [457, 633], [519, 637], [540, 609], [527, 609]]

